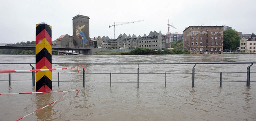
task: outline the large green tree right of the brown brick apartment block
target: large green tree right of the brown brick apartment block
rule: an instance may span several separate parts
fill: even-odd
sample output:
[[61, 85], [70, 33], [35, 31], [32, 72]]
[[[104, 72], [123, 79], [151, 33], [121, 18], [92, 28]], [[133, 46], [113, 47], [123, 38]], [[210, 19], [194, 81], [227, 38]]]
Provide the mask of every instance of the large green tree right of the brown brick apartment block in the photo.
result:
[[224, 31], [224, 49], [236, 49], [240, 44], [240, 36], [235, 29], [228, 29]]

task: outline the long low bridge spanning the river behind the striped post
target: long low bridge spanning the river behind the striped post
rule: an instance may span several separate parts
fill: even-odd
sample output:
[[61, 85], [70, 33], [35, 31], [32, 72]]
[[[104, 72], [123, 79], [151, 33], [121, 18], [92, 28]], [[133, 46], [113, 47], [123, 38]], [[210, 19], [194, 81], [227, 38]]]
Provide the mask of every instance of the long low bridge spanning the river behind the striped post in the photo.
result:
[[[18, 49], [18, 50], [35, 50], [35, 45], [22, 44], [18, 45], [0, 45], [0, 49]], [[80, 51], [80, 53], [72, 53], [69, 51]], [[52, 46], [52, 52], [66, 53], [71, 55], [89, 55], [90, 47], [67, 47], [67, 46]]]

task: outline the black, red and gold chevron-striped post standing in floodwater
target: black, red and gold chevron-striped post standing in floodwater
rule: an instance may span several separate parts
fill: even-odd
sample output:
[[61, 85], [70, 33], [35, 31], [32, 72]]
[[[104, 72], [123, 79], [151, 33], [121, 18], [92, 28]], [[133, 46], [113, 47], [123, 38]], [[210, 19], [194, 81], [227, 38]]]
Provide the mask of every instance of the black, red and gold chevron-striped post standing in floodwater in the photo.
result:
[[[36, 69], [52, 68], [52, 26], [36, 24]], [[52, 71], [36, 72], [36, 92], [52, 90]]]

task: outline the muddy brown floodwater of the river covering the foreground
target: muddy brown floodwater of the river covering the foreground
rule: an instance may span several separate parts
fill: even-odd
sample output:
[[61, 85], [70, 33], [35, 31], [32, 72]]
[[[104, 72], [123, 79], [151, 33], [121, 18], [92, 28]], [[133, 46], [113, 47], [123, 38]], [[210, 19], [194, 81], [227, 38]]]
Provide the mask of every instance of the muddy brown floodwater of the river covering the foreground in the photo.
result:
[[[132, 62], [255, 62], [256, 54], [230, 55], [53, 55], [52, 63]], [[0, 55], [0, 62], [35, 62], [34, 55]], [[35, 64], [32, 64], [35, 66]], [[256, 121], [256, 67], [251, 66], [250, 87], [246, 68], [250, 64], [84, 65], [52, 71], [52, 91], [47, 94], [0, 95], [0, 120], [14, 121]], [[78, 66], [53, 64], [52, 68]], [[0, 70], [31, 69], [30, 64], [0, 64]], [[58, 74], [60, 72], [60, 86]], [[65, 73], [68, 72], [68, 73]], [[220, 87], [220, 74], [222, 87]], [[110, 87], [111, 73], [111, 87]], [[166, 77], [165, 77], [165, 73]], [[165, 87], [166, 78], [166, 87]], [[0, 73], [0, 94], [35, 92], [32, 74]]]

